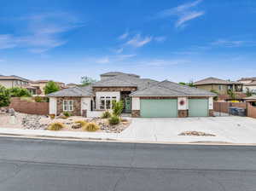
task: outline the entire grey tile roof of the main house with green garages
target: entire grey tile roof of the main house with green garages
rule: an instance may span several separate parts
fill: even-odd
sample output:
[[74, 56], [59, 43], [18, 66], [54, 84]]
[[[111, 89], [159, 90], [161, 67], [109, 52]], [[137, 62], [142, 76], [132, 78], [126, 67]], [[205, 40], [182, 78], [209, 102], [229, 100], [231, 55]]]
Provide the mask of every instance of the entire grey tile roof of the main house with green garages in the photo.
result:
[[216, 96], [207, 90], [190, 88], [169, 81], [158, 82], [148, 78], [137, 78], [120, 74], [84, 87], [60, 90], [48, 96], [93, 96], [93, 87], [137, 87], [131, 96]]

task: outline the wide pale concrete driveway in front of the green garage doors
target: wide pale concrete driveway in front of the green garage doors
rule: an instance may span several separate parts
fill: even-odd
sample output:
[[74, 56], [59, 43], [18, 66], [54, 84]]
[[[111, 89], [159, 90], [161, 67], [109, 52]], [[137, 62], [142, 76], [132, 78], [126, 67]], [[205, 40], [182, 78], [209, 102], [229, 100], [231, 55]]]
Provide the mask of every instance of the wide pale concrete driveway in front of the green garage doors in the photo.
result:
[[[187, 130], [215, 136], [178, 136]], [[133, 119], [119, 136], [123, 141], [256, 143], [256, 119], [208, 117], [186, 119]]]

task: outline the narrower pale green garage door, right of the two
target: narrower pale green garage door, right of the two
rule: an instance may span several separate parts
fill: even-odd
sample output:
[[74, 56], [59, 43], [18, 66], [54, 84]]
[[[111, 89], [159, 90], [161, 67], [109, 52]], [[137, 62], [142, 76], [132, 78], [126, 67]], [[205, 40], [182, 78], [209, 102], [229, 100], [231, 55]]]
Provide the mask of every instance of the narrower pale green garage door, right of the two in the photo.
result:
[[207, 117], [208, 99], [189, 99], [189, 117]]

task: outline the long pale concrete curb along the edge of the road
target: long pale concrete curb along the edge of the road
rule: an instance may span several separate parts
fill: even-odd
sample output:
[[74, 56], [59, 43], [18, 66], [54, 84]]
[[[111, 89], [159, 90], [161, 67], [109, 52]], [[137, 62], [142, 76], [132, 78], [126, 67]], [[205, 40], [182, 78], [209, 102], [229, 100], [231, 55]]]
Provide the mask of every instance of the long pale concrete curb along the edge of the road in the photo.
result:
[[145, 142], [145, 141], [121, 141], [118, 139], [102, 139], [102, 138], [79, 138], [72, 136], [30, 136], [22, 134], [0, 133], [0, 137], [15, 137], [29, 139], [45, 139], [58, 141], [73, 141], [73, 142], [122, 142], [122, 143], [138, 143], [138, 144], [170, 144], [170, 145], [212, 145], [212, 146], [256, 146], [256, 143], [233, 143], [233, 142]]

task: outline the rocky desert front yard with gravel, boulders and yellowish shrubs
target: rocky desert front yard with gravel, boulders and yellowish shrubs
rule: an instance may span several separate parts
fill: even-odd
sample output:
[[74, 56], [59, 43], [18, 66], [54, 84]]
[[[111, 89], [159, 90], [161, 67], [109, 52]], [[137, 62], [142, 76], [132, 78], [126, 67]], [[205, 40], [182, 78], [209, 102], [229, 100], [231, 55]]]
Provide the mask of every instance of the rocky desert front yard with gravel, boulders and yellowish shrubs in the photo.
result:
[[[130, 124], [131, 119], [120, 119], [119, 124], [109, 124], [108, 119], [83, 118], [80, 116], [66, 117], [61, 114], [54, 119], [48, 115], [33, 115], [15, 112], [14, 109], [2, 109], [0, 112], [0, 127], [24, 130], [49, 130], [51, 124], [61, 124], [61, 130], [70, 131], [98, 131], [106, 133], [120, 133]], [[96, 130], [86, 130], [85, 124], [93, 124]]]

